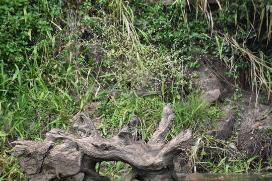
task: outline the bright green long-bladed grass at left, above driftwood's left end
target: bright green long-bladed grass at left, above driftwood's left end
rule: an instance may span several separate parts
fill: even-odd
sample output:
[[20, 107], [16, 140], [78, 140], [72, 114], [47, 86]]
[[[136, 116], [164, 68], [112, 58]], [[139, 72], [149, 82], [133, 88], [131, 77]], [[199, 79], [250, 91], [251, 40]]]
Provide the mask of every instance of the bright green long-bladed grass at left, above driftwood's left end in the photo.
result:
[[[44, 134], [52, 128], [68, 130], [69, 118], [80, 112], [88, 100], [94, 97], [94, 93], [90, 92], [94, 78], [86, 74], [74, 86], [73, 82], [79, 78], [76, 73], [79, 70], [75, 69], [75, 65], [44, 74], [36, 63], [27, 61], [21, 70], [15, 64], [16, 71], [12, 77], [6, 73], [3, 61], [1, 67], [0, 133], [3, 169], [0, 175], [4, 175], [3, 178], [22, 180], [18, 162], [10, 156], [12, 147], [9, 142], [18, 137], [42, 140]], [[63, 73], [59, 74], [59, 71]], [[73, 92], [79, 92], [79, 95], [74, 96]]]

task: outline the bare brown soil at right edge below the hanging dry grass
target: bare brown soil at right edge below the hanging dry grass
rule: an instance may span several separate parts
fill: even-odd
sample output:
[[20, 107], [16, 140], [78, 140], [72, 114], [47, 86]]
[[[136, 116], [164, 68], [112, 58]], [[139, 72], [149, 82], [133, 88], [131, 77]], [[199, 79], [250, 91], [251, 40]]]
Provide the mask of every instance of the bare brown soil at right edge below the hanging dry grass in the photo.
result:
[[268, 159], [272, 151], [271, 99], [264, 101], [261, 97], [257, 99], [255, 95], [247, 93], [243, 94], [243, 98], [236, 101], [235, 105], [238, 106], [238, 150], [248, 157], [260, 154], [264, 160]]

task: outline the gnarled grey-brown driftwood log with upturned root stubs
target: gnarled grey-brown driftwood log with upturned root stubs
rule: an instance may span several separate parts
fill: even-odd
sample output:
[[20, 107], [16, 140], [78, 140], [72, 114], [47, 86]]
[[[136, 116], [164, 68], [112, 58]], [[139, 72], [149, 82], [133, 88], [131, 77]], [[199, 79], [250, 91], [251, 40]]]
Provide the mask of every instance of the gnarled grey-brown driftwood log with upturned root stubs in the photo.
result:
[[13, 142], [16, 144], [13, 155], [20, 157], [21, 170], [30, 181], [65, 180], [82, 172], [85, 181], [110, 180], [96, 172], [95, 165], [101, 161], [122, 161], [131, 165], [132, 172], [124, 177], [125, 181], [177, 180], [173, 158], [193, 145], [190, 130], [179, 133], [168, 143], [164, 141], [175, 118], [171, 104], [164, 107], [159, 127], [147, 144], [132, 140], [127, 126], [116, 136], [104, 139], [88, 116], [84, 113], [80, 116], [85, 124], [72, 122], [83, 136], [52, 129], [46, 133], [44, 141], [18, 139]]

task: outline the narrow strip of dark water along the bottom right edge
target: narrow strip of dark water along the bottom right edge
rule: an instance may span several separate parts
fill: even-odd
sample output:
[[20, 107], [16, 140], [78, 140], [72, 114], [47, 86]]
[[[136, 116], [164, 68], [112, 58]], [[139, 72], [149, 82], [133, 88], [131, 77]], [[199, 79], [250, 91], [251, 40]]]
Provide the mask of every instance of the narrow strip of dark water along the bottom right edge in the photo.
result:
[[188, 174], [178, 174], [180, 181], [272, 181], [272, 173], [203, 173], [200, 176]]

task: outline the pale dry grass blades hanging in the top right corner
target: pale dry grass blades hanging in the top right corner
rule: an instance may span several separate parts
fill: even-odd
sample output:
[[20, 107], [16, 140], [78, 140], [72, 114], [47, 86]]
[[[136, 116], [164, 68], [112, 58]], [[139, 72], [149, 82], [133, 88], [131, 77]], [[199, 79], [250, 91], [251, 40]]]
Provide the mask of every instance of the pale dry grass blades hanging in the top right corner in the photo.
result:
[[[196, 15], [199, 12], [202, 12], [207, 19], [208, 25], [211, 30], [211, 39], [216, 39], [217, 44], [218, 44], [218, 49], [220, 53], [220, 59], [222, 60], [222, 47], [223, 47], [223, 42], [225, 41], [226, 43], [231, 45], [232, 51], [239, 50], [239, 55], [236, 57], [235, 60], [232, 59], [231, 61], [224, 61], [226, 66], [229, 68], [231, 71], [238, 71], [235, 69], [235, 64], [238, 62], [248, 62], [248, 68], [245, 70], [243, 68], [243, 72], [248, 72], [246, 76], [248, 76], [247, 81], [250, 83], [252, 91], [255, 92], [257, 95], [262, 91], [267, 93], [268, 99], [270, 97], [270, 93], [272, 93], [271, 89], [271, 77], [270, 77], [270, 72], [272, 71], [272, 65], [271, 62], [268, 62], [266, 59], [266, 55], [261, 52], [252, 52], [249, 50], [247, 47], [247, 41], [248, 41], [248, 36], [250, 32], [254, 29], [258, 29], [258, 37], [257, 41], [263, 41], [266, 40], [266, 47], [269, 45], [269, 42], [271, 40], [271, 34], [272, 34], [272, 16], [270, 13], [270, 4], [265, 3], [263, 1], [258, 1], [258, 0], [252, 0], [252, 1], [244, 1], [244, 8], [246, 11], [246, 23], [241, 24], [237, 21], [237, 13], [235, 16], [235, 26], [236, 26], [236, 32], [240, 33], [246, 33], [247, 36], [245, 39], [243, 39], [242, 43], [238, 43], [238, 40], [236, 39], [236, 36], [229, 37], [224, 33], [218, 33], [214, 29], [214, 20], [213, 20], [213, 12], [210, 9], [210, 5], [207, 0], [194, 0], [194, 1], [186, 1], [186, 0], [176, 0], [174, 4], [186, 4], [189, 9], [191, 10], [191, 6], [194, 7], [196, 11]], [[225, 8], [229, 6], [231, 3], [230, 1], [218, 1], [216, 0], [216, 3], [219, 6], [219, 11], [221, 13], [225, 14]], [[245, 3], [252, 3], [252, 6], [254, 7], [254, 18], [253, 20], [249, 18], [249, 14], [252, 14], [250, 10], [247, 9], [247, 6]], [[173, 4], [173, 5], [174, 5]], [[225, 8], [222, 8], [225, 7]], [[184, 6], [183, 6], [184, 8]], [[186, 17], [186, 15], [182, 15], [183, 17]], [[243, 27], [246, 27], [246, 31], [243, 29]], [[266, 33], [264, 38], [260, 39], [260, 34]], [[222, 40], [220, 43], [219, 40]], [[237, 58], [238, 57], [238, 58]], [[224, 60], [224, 59], [223, 59]]]

